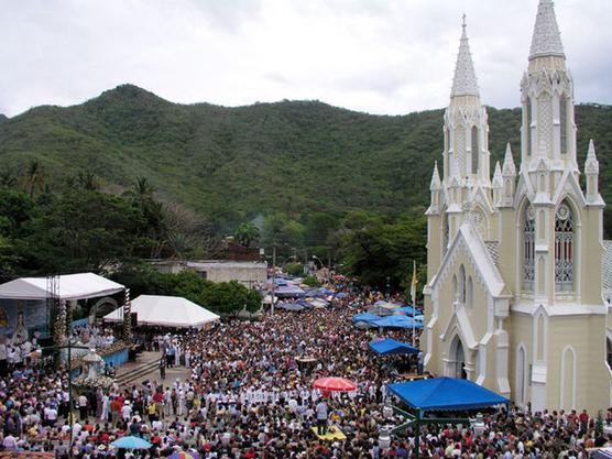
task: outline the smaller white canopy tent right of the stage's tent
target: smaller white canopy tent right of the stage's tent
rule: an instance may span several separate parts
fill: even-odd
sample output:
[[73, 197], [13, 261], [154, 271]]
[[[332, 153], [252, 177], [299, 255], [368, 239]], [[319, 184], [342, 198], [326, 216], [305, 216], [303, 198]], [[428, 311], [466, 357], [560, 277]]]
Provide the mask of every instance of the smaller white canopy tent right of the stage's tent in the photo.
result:
[[[132, 313], [139, 325], [163, 327], [196, 327], [219, 320], [219, 316], [179, 296], [141, 295], [132, 300]], [[108, 321], [122, 321], [123, 308], [105, 316]]]

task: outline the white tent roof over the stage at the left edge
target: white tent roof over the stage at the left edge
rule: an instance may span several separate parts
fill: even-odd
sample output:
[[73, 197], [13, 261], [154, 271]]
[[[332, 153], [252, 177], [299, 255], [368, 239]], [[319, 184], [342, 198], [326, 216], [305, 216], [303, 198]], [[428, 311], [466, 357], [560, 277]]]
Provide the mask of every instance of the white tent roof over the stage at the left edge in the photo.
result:
[[[0, 285], [0, 298], [46, 299], [52, 296], [50, 277], [20, 277]], [[94, 273], [55, 276], [58, 299], [84, 299], [112, 295], [125, 287]]]

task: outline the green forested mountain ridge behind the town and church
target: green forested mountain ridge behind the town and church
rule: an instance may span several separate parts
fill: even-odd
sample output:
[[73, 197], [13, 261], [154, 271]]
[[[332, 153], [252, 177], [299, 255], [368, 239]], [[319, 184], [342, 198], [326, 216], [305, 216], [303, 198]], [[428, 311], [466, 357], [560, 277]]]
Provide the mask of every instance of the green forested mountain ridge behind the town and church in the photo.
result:
[[[612, 201], [612, 107], [576, 113], [580, 164], [593, 138], [602, 194]], [[520, 117], [489, 108], [492, 165], [507, 141], [516, 160]], [[0, 164], [17, 173], [37, 160], [53, 186], [86, 170], [113, 192], [145, 176], [162, 199], [222, 227], [274, 210], [398, 214], [428, 203], [441, 127], [442, 110], [390, 117], [318, 101], [178, 105], [123, 85], [78, 106], [0, 120]]]

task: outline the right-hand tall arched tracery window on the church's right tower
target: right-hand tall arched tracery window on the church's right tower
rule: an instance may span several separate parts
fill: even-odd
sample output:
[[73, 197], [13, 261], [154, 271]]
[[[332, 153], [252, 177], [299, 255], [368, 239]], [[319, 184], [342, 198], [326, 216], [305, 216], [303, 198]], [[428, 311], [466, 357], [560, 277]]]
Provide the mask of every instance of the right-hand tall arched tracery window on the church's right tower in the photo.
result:
[[555, 289], [573, 289], [573, 214], [566, 203], [555, 212]]

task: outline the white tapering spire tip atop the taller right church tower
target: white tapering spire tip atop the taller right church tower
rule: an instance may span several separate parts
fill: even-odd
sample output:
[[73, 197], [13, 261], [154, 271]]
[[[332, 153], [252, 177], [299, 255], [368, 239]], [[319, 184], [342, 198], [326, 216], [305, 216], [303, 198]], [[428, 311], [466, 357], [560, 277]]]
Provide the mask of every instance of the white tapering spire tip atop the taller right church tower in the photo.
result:
[[566, 56], [553, 0], [539, 0], [532, 47], [529, 50], [529, 61], [546, 56]]

